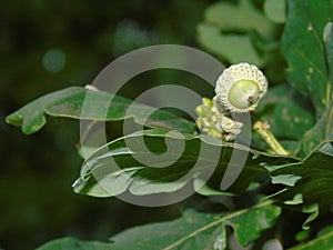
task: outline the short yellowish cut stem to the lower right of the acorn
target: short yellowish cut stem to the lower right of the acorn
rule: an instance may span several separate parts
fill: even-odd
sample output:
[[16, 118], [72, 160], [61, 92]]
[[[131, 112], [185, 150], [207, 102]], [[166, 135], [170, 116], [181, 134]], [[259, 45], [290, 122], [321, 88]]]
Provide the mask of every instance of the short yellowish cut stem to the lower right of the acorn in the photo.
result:
[[271, 132], [270, 124], [268, 122], [256, 121], [253, 124], [253, 129], [265, 140], [276, 154], [290, 154]]

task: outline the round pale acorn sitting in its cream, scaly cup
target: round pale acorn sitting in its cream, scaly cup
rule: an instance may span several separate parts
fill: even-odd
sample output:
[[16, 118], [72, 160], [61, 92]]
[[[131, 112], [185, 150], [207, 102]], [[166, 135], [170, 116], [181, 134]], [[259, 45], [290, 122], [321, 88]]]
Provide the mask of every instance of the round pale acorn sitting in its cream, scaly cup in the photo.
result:
[[241, 62], [225, 69], [216, 82], [220, 111], [249, 112], [256, 108], [268, 91], [265, 76], [252, 64]]

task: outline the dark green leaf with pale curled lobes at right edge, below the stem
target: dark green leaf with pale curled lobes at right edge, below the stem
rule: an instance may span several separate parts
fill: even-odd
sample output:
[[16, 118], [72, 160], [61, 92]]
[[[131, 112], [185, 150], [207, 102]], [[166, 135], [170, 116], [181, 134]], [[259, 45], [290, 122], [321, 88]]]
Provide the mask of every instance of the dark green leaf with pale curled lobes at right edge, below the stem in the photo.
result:
[[[332, 142], [325, 142], [302, 162], [266, 167], [275, 183], [290, 186], [274, 198], [285, 201], [301, 193], [306, 204], [333, 206], [332, 163], [333, 146]], [[276, 182], [279, 177], [280, 181]], [[291, 182], [291, 179], [294, 181]]]

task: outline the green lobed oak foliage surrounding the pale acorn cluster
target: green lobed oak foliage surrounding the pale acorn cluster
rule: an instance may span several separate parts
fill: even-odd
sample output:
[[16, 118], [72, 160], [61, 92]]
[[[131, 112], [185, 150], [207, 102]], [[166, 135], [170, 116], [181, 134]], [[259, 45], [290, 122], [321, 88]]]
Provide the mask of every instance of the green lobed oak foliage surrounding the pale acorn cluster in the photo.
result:
[[[333, 2], [259, 2], [213, 3], [198, 26], [198, 39], [208, 51], [229, 63], [249, 61], [268, 72], [273, 87], [254, 117], [268, 120], [292, 154], [266, 152], [255, 136], [251, 149], [221, 142], [199, 134], [193, 121], [171, 111], [103, 91], [88, 93], [84, 88], [72, 87], [43, 96], [7, 117], [7, 122], [20, 126], [27, 134], [41, 129], [46, 116], [93, 121], [132, 118], [134, 123], [145, 126], [145, 130], [124, 134], [102, 147], [83, 144], [79, 149], [81, 156], [82, 151], [89, 154], [83, 156], [73, 184], [75, 192], [144, 198], [172, 194], [190, 186], [205, 197], [205, 202], [203, 208], [192, 206], [201, 208], [200, 212], [188, 209], [173, 221], [128, 229], [105, 243], [64, 238], [41, 250], [223, 250], [230, 247], [232, 232], [243, 247], [251, 243], [253, 249], [261, 249], [270, 239], [289, 239], [281, 242], [284, 249], [332, 247], [333, 221], [325, 218], [332, 218], [333, 208]], [[274, 8], [278, 12], [272, 12]], [[87, 94], [92, 97], [89, 103], [84, 103]], [[134, 109], [127, 113], [130, 106]], [[202, 149], [210, 153], [202, 156]], [[220, 190], [233, 151], [249, 151], [244, 168], [231, 187]], [[193, 166], [196, 168], [191, 172]], [[190, 177], [182, 179], [188, 173]], [[295, 220], [289, 220], [290, 214]]]

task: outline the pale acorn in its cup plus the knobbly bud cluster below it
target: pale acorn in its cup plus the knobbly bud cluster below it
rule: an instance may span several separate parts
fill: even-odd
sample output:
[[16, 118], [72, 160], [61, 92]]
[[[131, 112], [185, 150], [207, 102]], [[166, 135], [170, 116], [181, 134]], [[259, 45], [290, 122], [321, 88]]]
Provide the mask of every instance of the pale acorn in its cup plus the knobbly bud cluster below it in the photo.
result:
[[231, 113], [253, 111], [266, 91], [268, 80], [255, 66], [231, 66], [219, 77], [212, 101], [203, 98], [195, 108], [199, 129], [223, 141], [235, 139], [243, 123], [233, 120]]

